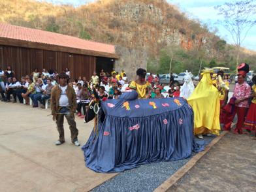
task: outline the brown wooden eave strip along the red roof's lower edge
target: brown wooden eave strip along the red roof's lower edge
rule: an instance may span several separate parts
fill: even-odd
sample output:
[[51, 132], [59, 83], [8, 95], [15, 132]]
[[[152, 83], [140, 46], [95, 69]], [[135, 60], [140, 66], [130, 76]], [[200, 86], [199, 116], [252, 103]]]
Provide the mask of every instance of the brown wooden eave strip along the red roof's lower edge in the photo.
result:
[[97, 52], [94, 50], [83, 50], [78, 48], [58, 46], [54, 44], [45, 44], [40, 42], [31, 42], [31, 41], [20, 40], [20, 39], [10, 39], [6, 37], [0, 37], [0, 44], [7, 45], [7, 46], [18, 46], [18, 47], [24, 47], [24, 48], [49, 50], [49, 51], [55, 51], [55, 52], [67, 52], [71, 54], [80, 54], [80, 55], [86, 55], [86, 56], [108, 57], [112, 59], [119, 59], [119, 56], [117, 54], [112, 54], [112, 53]]

